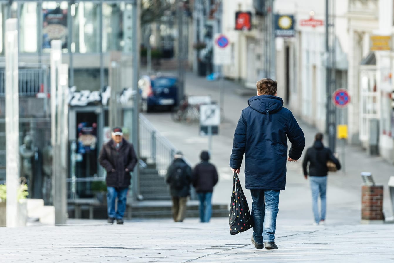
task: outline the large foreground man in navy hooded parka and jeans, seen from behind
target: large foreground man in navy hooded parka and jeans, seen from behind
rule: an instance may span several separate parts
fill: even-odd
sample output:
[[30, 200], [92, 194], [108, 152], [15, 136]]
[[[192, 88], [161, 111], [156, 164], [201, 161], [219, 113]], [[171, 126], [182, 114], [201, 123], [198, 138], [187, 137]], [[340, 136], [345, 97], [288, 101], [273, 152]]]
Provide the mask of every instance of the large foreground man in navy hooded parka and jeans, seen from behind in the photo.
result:
[[230, 167], [239, 174], [245, 154], [245, 187], [253, 199], [252, 243], [257, 249], [277, 249], [276, 217], [279, 192], [286, 186], [286, 160], [301, 157], [305, 137], [292, 112], [276, 96], [277, 82], [263, 78], [256, 87], [257, 96], [248, 100], [234, 132]]

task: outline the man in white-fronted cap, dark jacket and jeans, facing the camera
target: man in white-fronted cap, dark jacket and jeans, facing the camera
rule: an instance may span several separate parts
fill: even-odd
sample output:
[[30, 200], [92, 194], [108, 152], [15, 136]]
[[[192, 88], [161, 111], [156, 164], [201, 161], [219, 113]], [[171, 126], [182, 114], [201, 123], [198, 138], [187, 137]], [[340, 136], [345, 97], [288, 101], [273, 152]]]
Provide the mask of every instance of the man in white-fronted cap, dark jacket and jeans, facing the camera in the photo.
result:
[[[121, 127], [112, 129], [112, 139], [102, 146], [99, 162], [107, 171], [107, 208], [108, 223], [123, 224], [126, 210], [126, 196], [130, 185], [130, 172], [137, 163], [136, 152], [131, 143], [123, 138]], [[115, 199], [118, 198], [117, 211]]]

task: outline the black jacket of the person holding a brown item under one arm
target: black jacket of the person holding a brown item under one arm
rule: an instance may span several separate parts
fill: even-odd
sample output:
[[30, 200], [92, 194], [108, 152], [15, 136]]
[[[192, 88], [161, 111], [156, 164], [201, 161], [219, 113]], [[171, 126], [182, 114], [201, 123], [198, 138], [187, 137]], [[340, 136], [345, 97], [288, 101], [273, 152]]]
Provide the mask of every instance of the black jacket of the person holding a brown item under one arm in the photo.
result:
[[307, 175], [307, 165], [309, 162], [309, 176], [327, 176], [327, 161], [335, 163], [336, 169], [341, 168], [338, 159], [335, 158], [331, 150], [324, 147], [321, 141], [315, 141], [313, 146], [307, 149], [302, 168], [304, 175]]

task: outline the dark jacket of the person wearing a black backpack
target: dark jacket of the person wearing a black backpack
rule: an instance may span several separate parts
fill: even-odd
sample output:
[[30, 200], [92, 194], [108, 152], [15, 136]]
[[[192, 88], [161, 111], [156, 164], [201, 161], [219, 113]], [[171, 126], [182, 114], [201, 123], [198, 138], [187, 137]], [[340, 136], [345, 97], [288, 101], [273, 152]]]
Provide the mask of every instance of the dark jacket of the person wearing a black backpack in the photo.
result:
[[[175, 171], [178, 168], [182, 168], [183, 170], [183, 187], [182, 189], [175, 189], [172, 186]], [[173, 161], [173, 163], [167, 169], [167, 184], [170, 185], [170, 194], [171, 196], [176, 197], [186, 197], [190, 195], [190, 183], [191, 183], [191, 168], [190, 166], [182, 159], [177, 158]]]

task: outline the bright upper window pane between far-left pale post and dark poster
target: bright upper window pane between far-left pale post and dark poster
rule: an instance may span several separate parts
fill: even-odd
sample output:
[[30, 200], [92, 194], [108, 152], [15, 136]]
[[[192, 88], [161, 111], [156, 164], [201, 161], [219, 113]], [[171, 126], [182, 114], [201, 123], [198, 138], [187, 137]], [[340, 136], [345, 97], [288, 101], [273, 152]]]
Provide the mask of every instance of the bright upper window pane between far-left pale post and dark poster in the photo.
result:
[[20, 4], [19, 50], [37, 52], [37, 3]]

